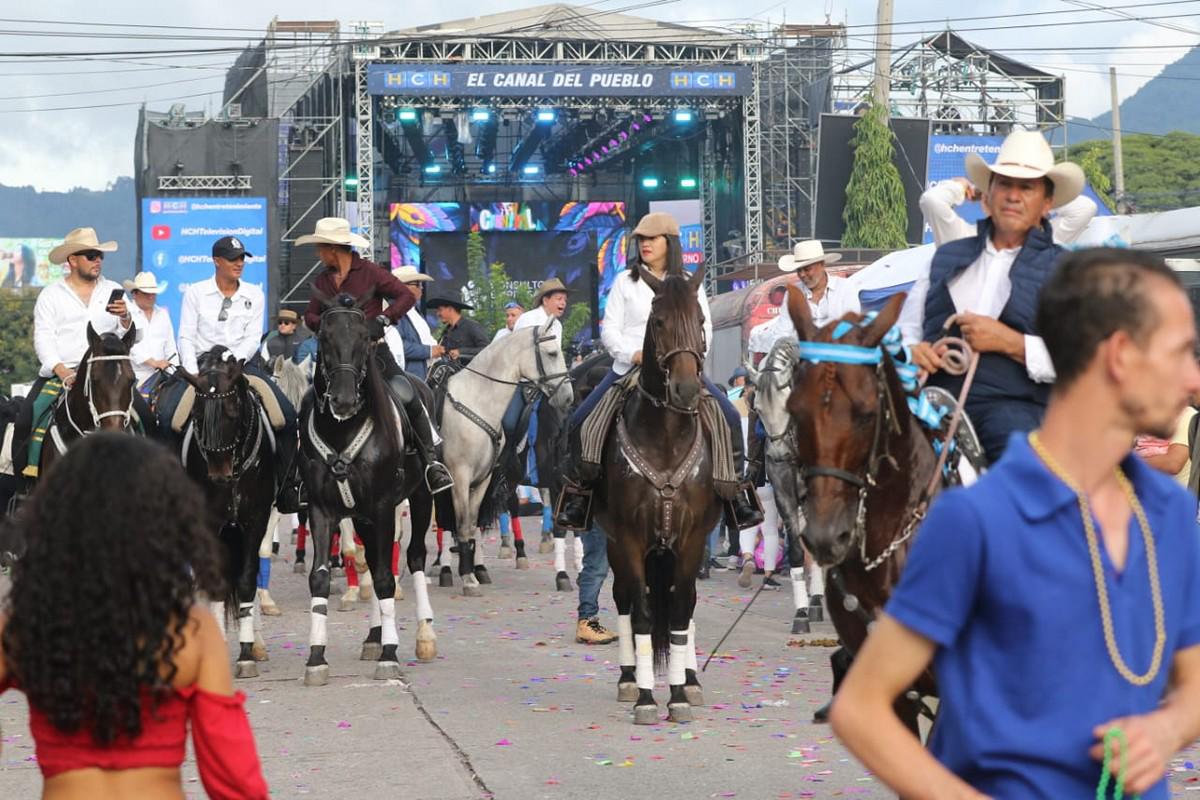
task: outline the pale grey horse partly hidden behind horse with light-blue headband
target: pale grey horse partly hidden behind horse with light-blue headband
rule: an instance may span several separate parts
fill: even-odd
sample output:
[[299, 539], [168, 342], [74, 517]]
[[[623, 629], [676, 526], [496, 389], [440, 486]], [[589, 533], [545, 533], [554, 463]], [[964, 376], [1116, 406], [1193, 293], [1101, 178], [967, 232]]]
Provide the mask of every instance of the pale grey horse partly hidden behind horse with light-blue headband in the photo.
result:
[[[764, 505], [774, 501], [779, 510], [779, 519], [787, 533], [788, 563], [792, 565], [790, 576], [792, 602], [796, 607], [792, 633], [808, 633], [810, 620], [824, 619], [821, 604], [824, 595], [824, 575], [800, 543], [800, 534], [805, 525], [804, 512], [800, 510], [804, 481], [796, 457], [792, 417], [787, 413], [787, 396], [792, 392], [792, 368], [798, 356], [796, 341], [781, 338], [763, 356], [757, 369], [750, 365], [746, 365], [746, 369], [755, 385], [755, 410], [767, 432], [763, 457], [770, 488], [768, 492], [760, 489], [760, 497]], [[808, 565], [808, 585], [804, 581], [805, 569], [800, 565]]]

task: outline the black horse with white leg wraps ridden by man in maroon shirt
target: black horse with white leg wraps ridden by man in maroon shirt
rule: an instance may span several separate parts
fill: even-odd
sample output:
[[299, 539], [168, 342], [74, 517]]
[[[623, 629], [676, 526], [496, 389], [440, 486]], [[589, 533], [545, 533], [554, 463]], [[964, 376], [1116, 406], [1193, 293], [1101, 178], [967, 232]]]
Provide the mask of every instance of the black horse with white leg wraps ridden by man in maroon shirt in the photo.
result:
[[[407, 561], [416, 595], [416, 657], [433, 661], [437, 636], [425, 582], [425, 531], [433, 497], [425, 486], [419, 455], [404, 447], [402, 411], [392, 401], [376, 354], [376, 348], [386, 345], [372, 341], [362, 311], [371, 295], [354, 297], [343, 293], [329, 299], [313, 291], [313, 296], [323, 312], [313, 389], [300, 409], [299, 451], [313, 542], [305, 685], [324, 686], [329, 681], [325, 622], [329, 546], [335, 528], [341, 528], [343, 545], [353, 542], [355, 534], [361, 539], [374, 588], [370, 631], [360, 658], [377, 661], [376, 680], [400, 678], [396, 579], [391, 573], [392, 548], [397, 546], [396, 507], [407, 498], [413, 517]], [[428, 403], [428, 395], [422, 393], [422, 399]], [[354, 566], [348, 564], [346, 569]]]

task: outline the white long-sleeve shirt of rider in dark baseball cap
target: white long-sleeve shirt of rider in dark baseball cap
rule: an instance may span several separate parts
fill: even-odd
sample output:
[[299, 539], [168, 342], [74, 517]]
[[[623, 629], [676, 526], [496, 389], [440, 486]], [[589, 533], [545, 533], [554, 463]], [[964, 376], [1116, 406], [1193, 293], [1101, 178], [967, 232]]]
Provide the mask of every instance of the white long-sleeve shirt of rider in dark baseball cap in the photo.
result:
[[236, 357], [250, 360], [258, 351], [266, 314], [263, 290], [241, 281], [228, 300], [226, 319], [221, 308], [226, 296], [217, 288], [216, 278], [187, 287], [179, 315], [179, 360], [185, 369], [196, 372], [196, 361], [217, 344], [227, 347]]

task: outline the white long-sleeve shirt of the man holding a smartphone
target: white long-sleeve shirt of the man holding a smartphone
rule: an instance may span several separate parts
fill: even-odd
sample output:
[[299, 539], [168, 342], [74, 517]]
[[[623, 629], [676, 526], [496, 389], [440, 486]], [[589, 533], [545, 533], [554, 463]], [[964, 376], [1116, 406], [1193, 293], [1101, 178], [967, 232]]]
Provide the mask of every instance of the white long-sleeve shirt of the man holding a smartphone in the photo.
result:
[[88, 350], [88, 323], [97, 333], [120, 333], [121, 320], [104, 311], [120, 284], [100, 278], [86, 305], [67, 282], [58, 281], [42, 289], [34, 305], [34, 351], [42, 378], [54, 374], [61, 363], [74, 369]]

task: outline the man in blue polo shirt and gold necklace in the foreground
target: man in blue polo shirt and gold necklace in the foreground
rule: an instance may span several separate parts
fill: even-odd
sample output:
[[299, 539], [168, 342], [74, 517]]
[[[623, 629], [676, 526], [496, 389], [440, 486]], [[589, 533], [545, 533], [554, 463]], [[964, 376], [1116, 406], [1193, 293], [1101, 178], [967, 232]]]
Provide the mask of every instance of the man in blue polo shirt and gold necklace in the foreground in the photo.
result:
[[[1192, 307], [1157, 255], [1102, 248], [1063, 259], [1037, 324], [1057, 373], [1042, 428], [938, 498], [834, 700], [905, 798], [1094, 796], [1114, 727], [1126, 793], [1166, 798], [1200, 735], [1196, 501], [1129, 453], [1200, 390]], [[925, 751], [892, 704], [930, 661]]]

